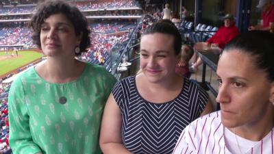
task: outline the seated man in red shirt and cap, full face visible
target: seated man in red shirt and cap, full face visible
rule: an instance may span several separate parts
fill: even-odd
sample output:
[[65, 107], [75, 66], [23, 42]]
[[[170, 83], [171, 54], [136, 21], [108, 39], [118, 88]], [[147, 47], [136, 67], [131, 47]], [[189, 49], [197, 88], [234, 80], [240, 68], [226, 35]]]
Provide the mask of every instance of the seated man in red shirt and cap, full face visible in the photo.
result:
[[[216, 31], [216, 34], [206, 42], [208, 47], [219, 47], [223, 49], [225, 44], [240, 34], [238, 27], [235, 26], [233, 14], [226, 14], [223, 17], [223, 22], [225, 23], [223, 27], [220, 27], [218, 31]], [[203, 63], [200, 57], [195, 60], [196, 57], [197, 53], [195, 53], [195, 57], [193, 58], [194, 62], [191, 66], [194, 71]]]

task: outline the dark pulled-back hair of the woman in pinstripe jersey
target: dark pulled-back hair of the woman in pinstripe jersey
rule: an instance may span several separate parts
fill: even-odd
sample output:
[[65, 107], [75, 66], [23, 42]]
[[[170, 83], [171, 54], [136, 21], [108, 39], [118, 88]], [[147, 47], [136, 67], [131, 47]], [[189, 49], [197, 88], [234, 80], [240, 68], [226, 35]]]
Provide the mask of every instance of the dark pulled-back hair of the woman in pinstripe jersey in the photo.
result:
[[274, 34], [269, 31], [249, 31], [229, 42], [223, 52], [237, 49], [254, 58], [257, 68], [264, 70], [269, 81], [274, 81]]

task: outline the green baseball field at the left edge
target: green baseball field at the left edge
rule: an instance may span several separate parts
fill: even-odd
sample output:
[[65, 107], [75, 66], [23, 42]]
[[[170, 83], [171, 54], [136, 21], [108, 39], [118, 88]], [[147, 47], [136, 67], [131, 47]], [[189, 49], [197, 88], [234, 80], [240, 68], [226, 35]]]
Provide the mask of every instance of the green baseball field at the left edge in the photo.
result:
[[0, 76], [5, 75], [12, 70], [16, 70], [34, 60], [38, 60], [42, 57], [42, 54], [37, 51], [18, 51], [18, 55], [15, 52], [5, 51], [0, 52]]

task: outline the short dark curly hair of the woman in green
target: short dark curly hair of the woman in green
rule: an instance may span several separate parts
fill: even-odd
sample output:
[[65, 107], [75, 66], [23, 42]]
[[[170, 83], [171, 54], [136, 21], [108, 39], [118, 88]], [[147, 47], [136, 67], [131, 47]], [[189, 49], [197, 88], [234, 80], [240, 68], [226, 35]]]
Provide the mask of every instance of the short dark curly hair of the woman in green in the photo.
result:
[[83, 35], [79, 44], [80, 52], [75, 54], [80, 55], [82, 52], [86, 52], [88, 47], [90, 47], [90, 30], [88, 29], [88, 21], [78, 8], [69, 5], [69, 3], [62, 0], [49, 0], [38, 5], [37, 12], [32, 16], [31, 21], [29, 21], [29, 27], [34, 30], [32, 34], [34, 44], [41, 49], [41, 25], [47, 18], [49, 18], [49, 16], [59, 13], [64, 14], [69, 21], [71, 21], [76, 36], [79, 36], [81, 33]]

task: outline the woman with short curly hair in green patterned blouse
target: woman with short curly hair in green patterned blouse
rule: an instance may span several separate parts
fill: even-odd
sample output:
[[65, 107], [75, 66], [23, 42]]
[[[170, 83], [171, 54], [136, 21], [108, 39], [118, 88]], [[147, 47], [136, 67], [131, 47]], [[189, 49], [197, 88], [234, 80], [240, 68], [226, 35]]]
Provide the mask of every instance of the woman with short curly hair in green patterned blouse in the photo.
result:
[[10, 88], [13, 153], [101, 154], [101, 114], [116, 79], [101, 66], [75, 60], [90, 45], [86, 18], [65, 1], [45, 1], [29, 25], [48, 58]]

